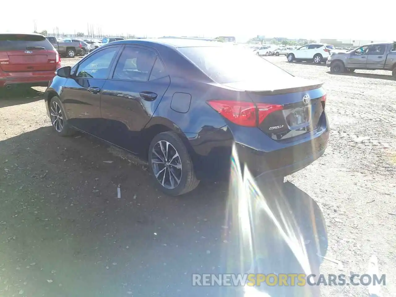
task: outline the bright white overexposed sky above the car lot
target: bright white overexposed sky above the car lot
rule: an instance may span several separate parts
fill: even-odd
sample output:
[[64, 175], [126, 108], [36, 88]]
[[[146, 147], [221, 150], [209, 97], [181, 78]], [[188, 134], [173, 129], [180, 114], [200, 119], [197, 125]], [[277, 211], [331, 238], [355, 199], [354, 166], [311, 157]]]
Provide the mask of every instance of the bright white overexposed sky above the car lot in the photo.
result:
[[[68, 4], [66, 4], [68, 3]], [[257, 36], [396, 40], [394, 0], [91, 0], [89, 2], [6, 1], [1, 31], [87, 33], [87, 23], [102, 34], [136, 36]], [[371, 3], [371, 4], [370, 4]], [[7, 11], [7, 13], [5, 13]], [[13, 13], [15, 12], [15, 13]], [[385, 13], [385, 14], [384, 14]], [[386, 17], [383, 17], [383, 16]], [[337, 21], [339, 19], [340, 21]], [[392, 34], [393, 32], [393, 34]]]

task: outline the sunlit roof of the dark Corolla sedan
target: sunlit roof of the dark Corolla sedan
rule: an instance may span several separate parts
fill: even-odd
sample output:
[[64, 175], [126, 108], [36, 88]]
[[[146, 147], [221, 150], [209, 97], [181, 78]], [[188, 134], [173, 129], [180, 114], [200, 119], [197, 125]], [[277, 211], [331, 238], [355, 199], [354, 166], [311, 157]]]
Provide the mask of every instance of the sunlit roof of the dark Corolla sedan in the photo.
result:
[[188, 48], [188, 47], [203, 47], [203, 46], [224, 46], [222, 42], [183, 39], [183, 38], [158, 38], [158, 39], [125, 39], [112, 42], [111, 44], [141, 44], [153, 45], [160, 44], [169, 48]]

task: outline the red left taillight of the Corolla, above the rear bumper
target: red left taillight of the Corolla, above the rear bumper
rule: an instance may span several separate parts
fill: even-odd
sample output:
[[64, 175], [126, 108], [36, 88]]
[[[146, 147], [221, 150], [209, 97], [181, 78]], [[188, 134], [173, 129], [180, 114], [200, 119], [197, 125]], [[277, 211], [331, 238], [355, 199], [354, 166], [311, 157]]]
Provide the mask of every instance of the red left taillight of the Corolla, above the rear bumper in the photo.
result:
[[231, 100], [209, 100], [208, 104], [227, 120], [245, 127], [256, 127], [268, 114], [283, 108], [282, 105], [268, 103], [255, 105], [253, 102]]

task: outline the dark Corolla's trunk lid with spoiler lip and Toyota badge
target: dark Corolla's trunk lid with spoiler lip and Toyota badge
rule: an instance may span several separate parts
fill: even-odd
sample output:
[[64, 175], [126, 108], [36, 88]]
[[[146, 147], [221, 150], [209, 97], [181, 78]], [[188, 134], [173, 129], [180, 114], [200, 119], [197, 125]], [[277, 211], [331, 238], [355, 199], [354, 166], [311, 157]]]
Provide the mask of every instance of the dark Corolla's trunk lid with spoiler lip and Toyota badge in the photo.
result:
[[[320, 126], [320, 116], [326, 103], [326, 93], [321, 82], [290, 76], [284, 80], [234, 82], [226, 85], [245, 91], [259, 110], [268, 107], [274, 110], [258, 126], [274, 140], [308, 133]], [[281, 107], [276, 108], [279, 105]]]

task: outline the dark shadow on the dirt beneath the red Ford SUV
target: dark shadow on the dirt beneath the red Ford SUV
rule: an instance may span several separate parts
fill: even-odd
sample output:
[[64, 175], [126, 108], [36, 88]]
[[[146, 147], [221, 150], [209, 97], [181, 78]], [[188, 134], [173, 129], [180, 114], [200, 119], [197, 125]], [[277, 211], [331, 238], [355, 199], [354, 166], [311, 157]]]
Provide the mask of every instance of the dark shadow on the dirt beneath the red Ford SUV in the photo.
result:
[[33, 88], [0, 89], [0, 108], [43, 99], [43, 92]]

